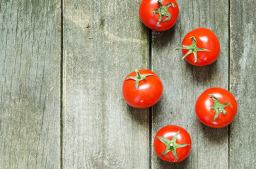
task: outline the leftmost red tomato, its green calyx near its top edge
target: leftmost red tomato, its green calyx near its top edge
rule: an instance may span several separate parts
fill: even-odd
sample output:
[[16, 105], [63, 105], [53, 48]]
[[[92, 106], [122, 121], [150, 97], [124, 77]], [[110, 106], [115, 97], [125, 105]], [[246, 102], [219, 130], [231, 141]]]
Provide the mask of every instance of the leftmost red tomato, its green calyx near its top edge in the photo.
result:
[[122, 85], [124, 100], [134, 108], [149, 108], [159, 101], [163, 84], [151, 70], [135, 70]]

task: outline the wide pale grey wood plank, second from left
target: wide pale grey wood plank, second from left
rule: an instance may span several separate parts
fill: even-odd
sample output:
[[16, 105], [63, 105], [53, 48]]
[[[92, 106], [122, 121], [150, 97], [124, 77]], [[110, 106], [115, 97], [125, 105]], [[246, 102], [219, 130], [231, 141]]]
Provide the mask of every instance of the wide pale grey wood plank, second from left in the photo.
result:
[[149, 67], [139, 1], [64, 1], [64, 168], [148, 168], [149, 109], [122, 82]]

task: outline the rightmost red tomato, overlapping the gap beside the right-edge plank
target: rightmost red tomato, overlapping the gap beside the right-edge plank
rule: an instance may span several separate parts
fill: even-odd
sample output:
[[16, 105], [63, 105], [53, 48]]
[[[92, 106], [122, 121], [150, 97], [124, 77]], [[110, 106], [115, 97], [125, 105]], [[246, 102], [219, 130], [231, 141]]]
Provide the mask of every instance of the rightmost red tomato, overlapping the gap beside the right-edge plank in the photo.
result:
[[238, 105], [235, 97], [226, 89], [214, 87], [206, 89], [195, 105], [197, 118], [209, 127], [221, 128], [235, 118]]

